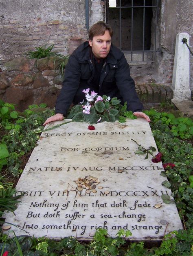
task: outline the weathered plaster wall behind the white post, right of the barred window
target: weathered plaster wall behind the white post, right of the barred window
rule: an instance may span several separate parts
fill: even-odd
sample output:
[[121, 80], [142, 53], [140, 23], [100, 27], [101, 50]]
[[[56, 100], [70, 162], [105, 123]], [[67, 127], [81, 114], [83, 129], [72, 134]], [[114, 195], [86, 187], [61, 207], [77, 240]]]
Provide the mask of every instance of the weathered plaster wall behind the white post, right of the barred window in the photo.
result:
[[[186, 32], [190, 35], [193, 48], [193, 1], [161, 0], [160, 9], [160, 52], [157, 54], [158, 82], [171, 85], [176, 35]], [[190, 87], [193, 89], [193, 57], [190, 56]]]

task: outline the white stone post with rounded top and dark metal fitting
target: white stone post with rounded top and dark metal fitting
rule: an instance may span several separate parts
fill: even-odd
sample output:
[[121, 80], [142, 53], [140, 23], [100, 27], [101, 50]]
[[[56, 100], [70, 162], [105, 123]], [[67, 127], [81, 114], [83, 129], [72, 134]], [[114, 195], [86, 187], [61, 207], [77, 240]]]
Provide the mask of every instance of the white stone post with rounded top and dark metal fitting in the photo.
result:
[[187, 39], [189, 45], [189, 34], [178, 33], [175, 42], [175, 57], [173, 66], [173, 99], [186, 99], [191, 98], [190, 91], [190, 52], [186, 44], [183, 44], [182, 39]]

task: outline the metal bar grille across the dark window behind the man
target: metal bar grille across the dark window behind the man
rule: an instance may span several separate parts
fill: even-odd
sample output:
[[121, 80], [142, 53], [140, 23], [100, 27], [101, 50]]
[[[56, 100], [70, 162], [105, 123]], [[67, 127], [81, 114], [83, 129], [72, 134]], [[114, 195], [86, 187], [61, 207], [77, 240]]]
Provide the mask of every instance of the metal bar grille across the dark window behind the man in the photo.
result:
[[[159, 0], [116, 0], [116, 7], [110, 7], [109, 2], [106, 1], [106, 17], [107, 22], [111, 24], [113, 31], [116, 31], [117, 40], [116, 46], [121, 49], [126, 55], [129, 55], [128, 62], [154, 62], [156, 58], [156, 27], [158, 20], [158, 2]], [[115, 1], [115, 0], [114, 0]], [[138, 9], [138, 10], [137, 10]], [[139, 13], [140, 10], [140, 13]], [[145, 45], [145, 38], [147, 39], [146, 31], [148, 29], [148, 12], [152, 11], [151, 28], [149, 34], [149, 49]], [[114, 11], [116, 18], [110, 20], [110, 13]], [[137, 15], [138, 12], [138, 15]], [[140, 17], [139, 17], [140, 14]], [[123, 30], [123, 15], [129, 18], [129, 38], [128, 45], [123, 46], [125, 40], [125, 33]], [[138, 17], [137, 17], [138, 16]], [[127, 20], [126, 18], [126, 20]], [[140, 18], [140, 33], [136, 34], [136, 27], [134, 22]], [[125, 22], [125, 21], [124, 21]], [[153, 22], [153, 23], [152, 23]], [[126, 32], [127, 33], [127, 32]], [[153, 36], [153, 37], [152, 37]], [[128, 36], [127, 36], [128, 37]], [[136, 49], [135, 41], [140, 41], [138, 49]], [[114, 38], [112, 38], [114, 43]], [[153, 42], [153, 44], [152, 44]], [[135, 57], [138, 56], [137, 60]]]

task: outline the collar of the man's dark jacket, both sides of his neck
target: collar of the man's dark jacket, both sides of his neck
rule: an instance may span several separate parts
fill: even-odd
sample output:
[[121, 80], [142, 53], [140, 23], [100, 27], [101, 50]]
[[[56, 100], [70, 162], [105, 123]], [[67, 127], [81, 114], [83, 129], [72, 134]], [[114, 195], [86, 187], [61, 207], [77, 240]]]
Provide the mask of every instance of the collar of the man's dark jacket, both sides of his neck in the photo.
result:
[[[80, 52], [80, 56], [79, 56], [79, 61], [85, 61], [85, 60], [91, 59], [90, 45], [89, 45], [88, 41], [84, 42], [81, 45], [80, 51], [81, 52]], [[110, 52], [107, 55], [106, 62], [110, 63], [110, 64], [117, 64], [117, 60], [113, 54], [113, 45], [112, 44], [111, 44]]]

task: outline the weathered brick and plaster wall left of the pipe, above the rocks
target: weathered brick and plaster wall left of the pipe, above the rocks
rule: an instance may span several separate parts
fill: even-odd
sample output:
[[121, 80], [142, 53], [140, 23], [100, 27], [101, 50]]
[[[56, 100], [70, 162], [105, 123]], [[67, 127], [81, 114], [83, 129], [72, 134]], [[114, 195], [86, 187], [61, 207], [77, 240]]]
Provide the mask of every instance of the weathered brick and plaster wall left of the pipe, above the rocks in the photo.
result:
[[85, 0], [0, 0], [0, 62], [46, 43], [66, 55], [77, 36], [87, 38]]

